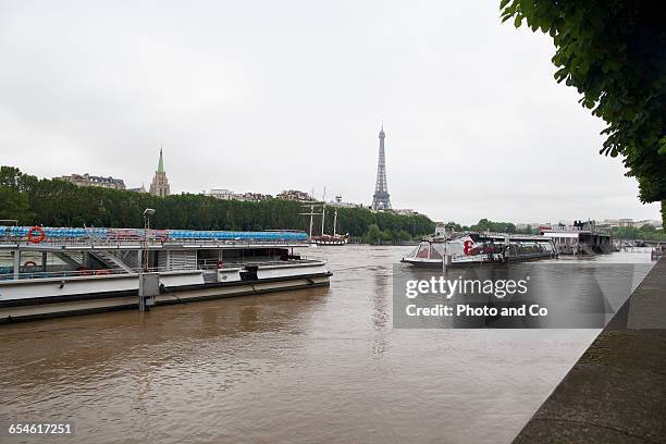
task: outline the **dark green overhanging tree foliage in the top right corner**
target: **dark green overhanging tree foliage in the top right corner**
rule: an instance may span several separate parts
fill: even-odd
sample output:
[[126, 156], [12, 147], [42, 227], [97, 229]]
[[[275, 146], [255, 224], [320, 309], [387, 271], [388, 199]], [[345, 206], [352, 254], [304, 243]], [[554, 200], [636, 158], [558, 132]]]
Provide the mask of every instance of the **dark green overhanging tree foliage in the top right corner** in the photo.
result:
[[502, 0], [503, 21], [553, 37], [557, 82], [608, 126], [604, 155], [621, 156], [643, 202], [666, 199], [666, 15], [652, 0]]

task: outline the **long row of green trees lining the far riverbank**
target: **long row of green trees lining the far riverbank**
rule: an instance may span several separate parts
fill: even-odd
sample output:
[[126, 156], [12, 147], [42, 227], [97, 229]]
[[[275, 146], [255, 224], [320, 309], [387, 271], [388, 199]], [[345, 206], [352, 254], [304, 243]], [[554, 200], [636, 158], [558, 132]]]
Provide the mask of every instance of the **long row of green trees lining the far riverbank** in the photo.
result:
[[[308, 230], [309, 225], [309, 219], [299, 214], [304, 212], [301, 203], [289, 200], [244, 202], [192, 194], [161, 198], [78, 187], [59, 180], [37, 180], [15, 168], [0, 166], [0, 219], [17, 219], [23, 225], [140, 227], [145, 208], [157, 210], [151, 219], [156, 229]], [[393, 242], [399, 240], [405, 233], [419, 237], [434, 232], [434, 223], [421, 214], [373, 213], [363, 208], [340, 208], [337, 211], [338, 234], [360, 237], [374, 225], [380, 233], [387, 233], [380, 238], [390, 236]], [[331, 208], [326, 208], [325, 222], [326, 233], [332, 233]], [[320, 224], [316, 227], [321, 230]]]

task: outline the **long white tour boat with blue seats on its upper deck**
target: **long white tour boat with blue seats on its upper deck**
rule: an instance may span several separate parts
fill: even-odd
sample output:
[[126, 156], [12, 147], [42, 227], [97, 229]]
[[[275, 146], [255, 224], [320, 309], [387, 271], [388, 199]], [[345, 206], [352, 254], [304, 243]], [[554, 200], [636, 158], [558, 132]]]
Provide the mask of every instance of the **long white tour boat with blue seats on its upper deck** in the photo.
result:
[[305, 232], [0, 226], [0, 323], [328, 286]]

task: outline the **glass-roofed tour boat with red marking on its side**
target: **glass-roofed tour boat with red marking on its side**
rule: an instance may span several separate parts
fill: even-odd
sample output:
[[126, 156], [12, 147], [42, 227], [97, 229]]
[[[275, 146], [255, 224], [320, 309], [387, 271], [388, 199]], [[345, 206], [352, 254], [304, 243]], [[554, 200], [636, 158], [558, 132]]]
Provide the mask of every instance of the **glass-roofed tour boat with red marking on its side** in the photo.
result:
[[417, 267], [509, 263], [557, 257], [555, 244], [544, 236], [503, 233], [451, 233], [421, 243], [402, 262]]

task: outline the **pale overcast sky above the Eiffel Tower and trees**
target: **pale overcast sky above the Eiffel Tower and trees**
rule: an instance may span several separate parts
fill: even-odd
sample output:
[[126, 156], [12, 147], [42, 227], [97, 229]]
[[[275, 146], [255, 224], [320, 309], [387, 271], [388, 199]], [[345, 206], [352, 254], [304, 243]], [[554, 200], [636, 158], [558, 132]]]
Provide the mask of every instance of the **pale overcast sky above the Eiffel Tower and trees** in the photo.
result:
[[498, 1], [0, 0], [0, 164], [369, 205], [383, 121], [394, 208], [659, 219], [553, 53]]

